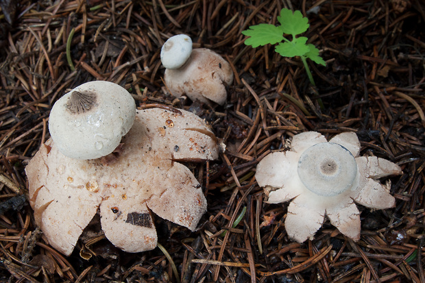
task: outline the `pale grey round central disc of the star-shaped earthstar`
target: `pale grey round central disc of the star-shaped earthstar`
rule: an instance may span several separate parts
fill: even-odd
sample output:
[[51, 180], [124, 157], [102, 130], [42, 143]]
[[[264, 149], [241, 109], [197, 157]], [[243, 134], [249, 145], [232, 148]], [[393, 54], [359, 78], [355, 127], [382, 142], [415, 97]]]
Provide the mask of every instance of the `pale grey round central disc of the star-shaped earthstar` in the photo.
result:
[[354, 184], [357, 164], [345, 147], [319, 143], [300, 156], [298, 175], [304, 186], [317, 195], [339, 195]]

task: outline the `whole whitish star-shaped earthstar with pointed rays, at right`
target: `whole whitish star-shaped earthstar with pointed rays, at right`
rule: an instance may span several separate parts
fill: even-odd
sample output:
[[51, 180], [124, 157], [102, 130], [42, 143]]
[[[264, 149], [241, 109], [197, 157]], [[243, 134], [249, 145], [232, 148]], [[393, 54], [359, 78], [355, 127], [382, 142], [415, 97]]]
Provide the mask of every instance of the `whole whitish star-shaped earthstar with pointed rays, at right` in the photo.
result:
[[258, 163], [255, 177], [269, 192], [267, 202], [291, 201], [284, 224], [290, 238], [298, 243], [313, 239], [326, 215], [339, 232], [358, 241], [360, 213], [354, 202], [376, 209], [395, 205], [377, 179], [402, 174], [401, 168], [359, 152], [352, 132], [329, 142], [318, 132], [305, 132], [293, 136], [290, 151], [270, 153]]

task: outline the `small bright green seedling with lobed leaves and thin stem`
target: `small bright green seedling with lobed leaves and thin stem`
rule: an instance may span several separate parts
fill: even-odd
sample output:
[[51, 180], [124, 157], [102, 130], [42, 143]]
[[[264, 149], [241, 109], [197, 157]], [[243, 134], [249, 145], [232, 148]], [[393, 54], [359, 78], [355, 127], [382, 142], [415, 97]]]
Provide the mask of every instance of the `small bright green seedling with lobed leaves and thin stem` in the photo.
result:
[[[249, 29], [242, 32], [245, 36], [250, 36], [245, 40], [245, 45], [251, 45], [253, 48], [267, 44], [276, 45], [275, 51], [284, 57], [300, 56], [302, 63], [306, 69], [308, 79], [315, 86], [313, 76], [306, 59], [309, 58], [326, 66], [326, 62], [319, 56], [319, 49], [312, 44], [306, 44], [308, 38], [305, 36], [296, 37], [303, 32], [306, 32], [308, 27], [308, 19], [302, 16], [300, 11], [292, 12], [289, 9], [283, 8], [278, 16], [280, 25], [270, 25], [268, 23], [260, 23], [252, 25]], [[284, 37], [284, 34], [291, 34], [292, 40]], [[282, 42], [283, 40], [283, 42]]]

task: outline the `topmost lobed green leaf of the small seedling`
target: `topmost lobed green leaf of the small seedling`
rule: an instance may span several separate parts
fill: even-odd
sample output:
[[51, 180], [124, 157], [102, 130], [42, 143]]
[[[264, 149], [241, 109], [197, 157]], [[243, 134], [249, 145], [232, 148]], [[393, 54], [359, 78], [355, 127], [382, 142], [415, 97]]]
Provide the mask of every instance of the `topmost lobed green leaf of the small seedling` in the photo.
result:
[[283, 8], [280, 11], [278, 21], [282, 25], [283, 32], [285, 34], [292, 34], [294, 38], [295, 35], [302, 34], [310, 26], [308, 24], [308, 19], [302, 16], [300, 11], [296, 10], [292, 12], [287, 8]]

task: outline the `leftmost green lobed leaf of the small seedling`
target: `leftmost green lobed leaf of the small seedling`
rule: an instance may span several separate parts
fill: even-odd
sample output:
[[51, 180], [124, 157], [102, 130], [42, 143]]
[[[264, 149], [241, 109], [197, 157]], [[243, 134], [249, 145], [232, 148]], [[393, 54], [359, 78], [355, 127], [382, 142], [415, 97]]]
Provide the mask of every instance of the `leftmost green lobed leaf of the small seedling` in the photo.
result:
[[245, 40], [245, 45], [252, 45], [252, 48], [267, 45], [268, 43], [274, 45], [283, 40], [282, 27], [269, 25], [268, 23], [260, 23], [259, 25], [252, 25], [249, 29], [242, 32], [245, 36], [251, 36]]

